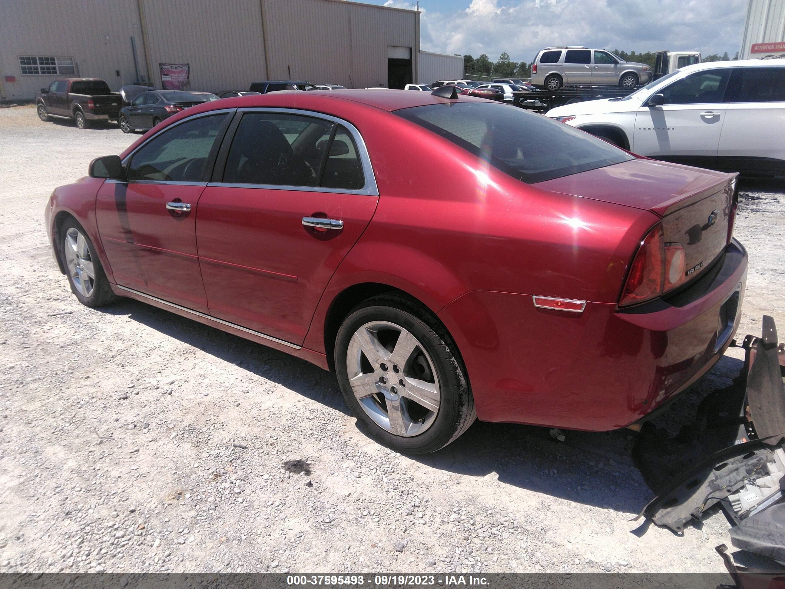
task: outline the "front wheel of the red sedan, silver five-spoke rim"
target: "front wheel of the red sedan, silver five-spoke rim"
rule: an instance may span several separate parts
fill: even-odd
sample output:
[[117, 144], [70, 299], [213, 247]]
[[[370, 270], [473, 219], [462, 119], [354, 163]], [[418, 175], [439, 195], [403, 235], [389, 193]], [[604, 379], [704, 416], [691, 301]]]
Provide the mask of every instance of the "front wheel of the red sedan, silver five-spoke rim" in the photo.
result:
[[71, 292], [82, 305], [100, 307], [118, 298], [111, 291], [93, 243], [82, 225], [73, 218], [65, 221], [60, 228], [60, 254]]

